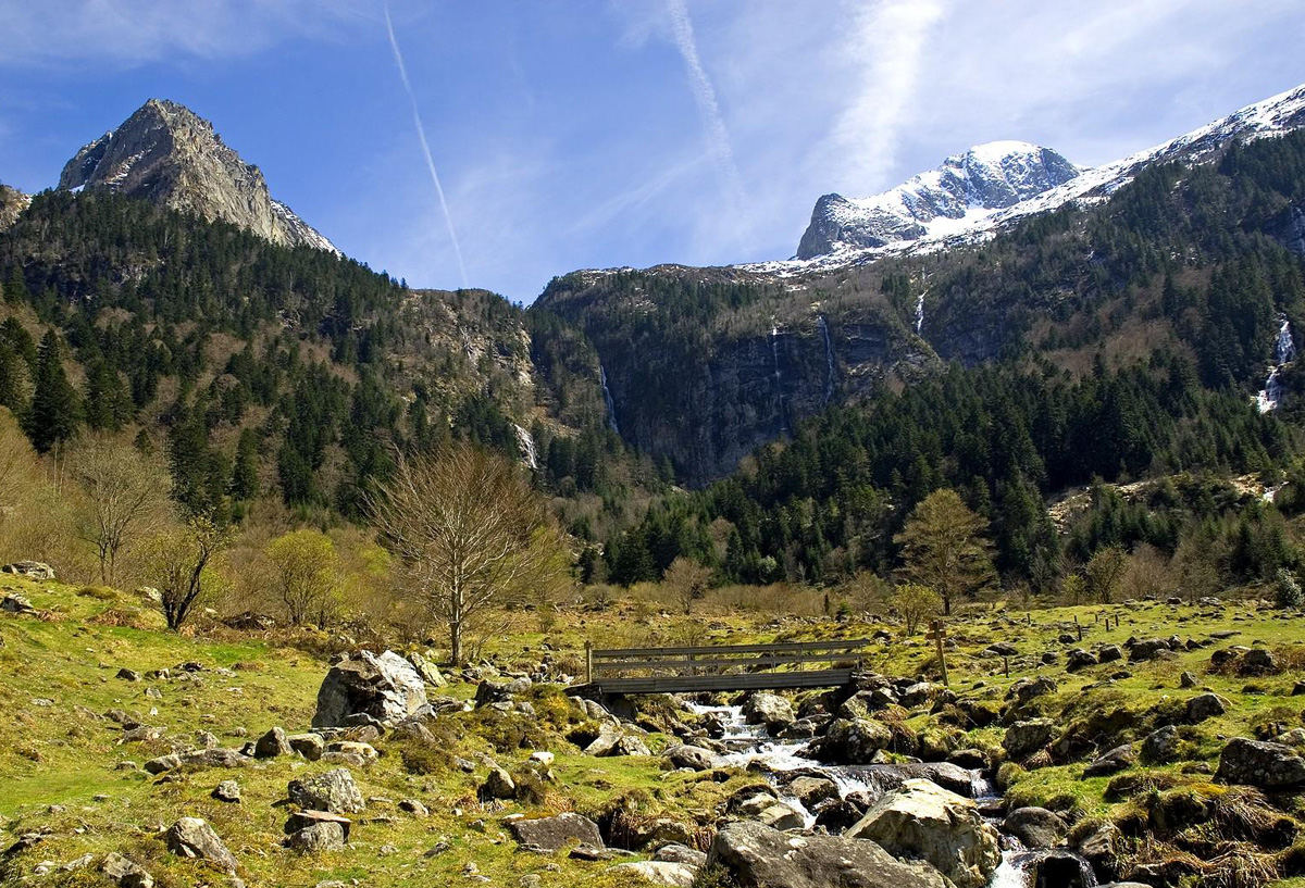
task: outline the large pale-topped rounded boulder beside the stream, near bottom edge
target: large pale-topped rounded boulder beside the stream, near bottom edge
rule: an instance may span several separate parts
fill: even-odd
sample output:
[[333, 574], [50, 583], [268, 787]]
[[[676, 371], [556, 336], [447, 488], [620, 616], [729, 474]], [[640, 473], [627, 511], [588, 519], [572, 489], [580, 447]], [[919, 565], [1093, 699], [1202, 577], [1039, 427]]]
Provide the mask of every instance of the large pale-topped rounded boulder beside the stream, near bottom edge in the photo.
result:
[[979, 806], [928, 780], [908, 780], [883, 795], [847, 837], [928, 861], [957, 888], [984, 888], [1001, 863], [997, 831]]

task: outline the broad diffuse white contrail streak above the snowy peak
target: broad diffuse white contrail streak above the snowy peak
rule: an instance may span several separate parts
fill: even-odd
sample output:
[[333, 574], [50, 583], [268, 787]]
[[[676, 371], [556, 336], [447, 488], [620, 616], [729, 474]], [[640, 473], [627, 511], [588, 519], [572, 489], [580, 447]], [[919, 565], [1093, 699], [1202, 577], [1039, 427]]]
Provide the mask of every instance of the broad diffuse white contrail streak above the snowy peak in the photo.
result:
[[883, 0], [857, 10], [847, 48], [861, 67], [861, 82], [835, 130], [848, 186], [883, 184], [920, 74], [925, 40], [945, 12], [945, 0]]

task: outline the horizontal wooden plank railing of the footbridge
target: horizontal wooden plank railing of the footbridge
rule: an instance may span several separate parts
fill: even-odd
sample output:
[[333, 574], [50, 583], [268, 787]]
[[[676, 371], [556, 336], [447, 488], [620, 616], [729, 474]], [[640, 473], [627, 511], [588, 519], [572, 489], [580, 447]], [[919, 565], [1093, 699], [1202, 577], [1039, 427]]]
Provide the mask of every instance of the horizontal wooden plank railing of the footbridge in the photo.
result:
[[808, 665], [831, 668], [860, 666], [870, 639], [831, 642], [779, 642], [774, 644], [713, 644], [673, 648], [604, 648], [585, 645], [586, 683], [608, 678], [726, 675], [775, 672], [782, 668], [804, 670]]

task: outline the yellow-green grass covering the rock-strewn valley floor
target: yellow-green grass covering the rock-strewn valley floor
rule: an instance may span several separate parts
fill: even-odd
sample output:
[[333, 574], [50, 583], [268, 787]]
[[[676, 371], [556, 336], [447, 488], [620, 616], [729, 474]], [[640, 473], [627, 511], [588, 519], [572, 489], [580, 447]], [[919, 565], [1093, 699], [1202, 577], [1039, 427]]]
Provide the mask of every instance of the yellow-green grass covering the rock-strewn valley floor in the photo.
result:
[[[59, 583], [33, 583], [4, 578], [0, 591], [25, 595], [44, 612], [31, 617], [0, 617], [0, 828], [10, 836], [50, 829], [37, 848], [10, 862], [10, 876], [29, 875], [43, 859], [64, 862], [85, 853], [128, 851], [137, 857], [161, 885], [215, 884], [205, 865], [176, 858], [166, 851], [158, 831], [179, 816], [202, 816], [226, 840], [241, 861], [248, 884], [290, 888], [316, 885], [322, 880], [358, 880], [371, 887], [442, 884], [462, 879], [463, 867], [475, 863], [495, 884], [512, 885], [525, 875], [540, 884], [615, 884], [608, 865], [570, 861], [565, 854], [540, 857], [515, 850], [502, 819], [513, 814], [538, 816], [577, 810], [599, 818], [619, 802], [630, 821], [672, 816], [681, 821], [710, 824], [723, 801], [756, 776], [735, 772], [716, 782], [710, 775], [663, 771], [656, 756], [649, 759], [594, 759], [565, 741], [579, 718], [555, 691], [539, 690], [531, 698], [539, 718], [526, 724], [495, 721], [485, 712], [441, 718], [436, 725], [444, 755], [408, 756], [398, 743], [378, 743], [381, 759], [367, 769], [355, 769], [364, 797], [373, 797], [352, 832], [348, 850], [313, 858], [281, 848], [286, 811], [281, 805], [286, 784], [326, 765], [300, 759], [261, 763], [238, 772], [201, 771], [176, 780], [158, 780], [140, 771], [119, 769], [124, 762], [144, 763], [168, 750], [163, 742], [120, 745], [121, 729], [104, 721], [108, 709], [140, 713], [149, 725], [164, 728], [172, 738], [191, 738], [198, 730], [215, 734], [223, 746], [239, 746], [273, 725], [304, 729], [311, 721], [317, 687], [328, 664], [313, 655], [275, 642], [214, 630], [194, 638], [168, 632], [159, 618], [133, 596], [100, 587], [74, 588]], [[1101, 618], [1118, 615], [1120, 625], [1105, 631]], [[637, 619], [636, 619], [637, 617]], [[1229, 642], [1169, 661], [1129, 665], [1124, 661], [1067, 674], [1064, 653], [1069, 647], [1057, 639], [1069, 632], [1077, 642], [1083, 627], [1083, 647], [1122, 644], [1130, 636], [1208, 639], [1211, 632], [1235, 630]], [[774, 621], [760, 614], [703, 609], [692, 618], [703, 643], [769, 640], [814, 640], [831, 636], [860, 638], [883, 629], [877, 619], [838, 625], [834, 621]], [[1250, 605], [1218, 608], [1138, 604], [1131, 606], [1057, 608], [1036, 610], [1032, 621], [1005, 609], [975, 609], [949, 622], [953, 647], [949, 672], [953, 690], [964, 698], [1005, 704], [1006, 691], [1021, 678], [1045, 674], [1056, 690], [1037, 698], [1032, 709], [1062, 724], [1094, 730], [1114, 730], [1118, 739], [1135, 741], [1156, 718], [1156, 712], [1180, 707], [1208, 687], [1228, 700], [1228, 712], [1202, 725], [1185, 729], [1189, 762], [1218, 764], [1223, 739], [1254, 735], [1266, 722], [1298, 726], [1305, 700], [1291, 696], [1305, 664], [1301, 618], [1261, 612]], [[530, 664], [543, 645], [556, 657], [574, 656], [586, 639], [600, 644], [625, 638], [638, 623], [641, 643], [667, 644], [685, 631], [683, 614], [662, 613], [647, 604], [617, 605], [608, 612], [582, 612], [559, 619], [549, 632], [538, 627], [495, 639], [485, 653], [502, 665]], [[622, 629], [626, 627], [626, 629]], [[890, 675], [934, 674], [934, 648], [923, 636], [902, 638], [889, 626], [893, 639], [872, 645], [870, 669]], [[1010, 660], [1010, 675], [1001, 657], [984, 652], [996, 640], [1010, 642], [1018, 655]], [[1224, 644], [1262, 643], [1283, 655], [1291, 666], [1279, 675], [1246, 678], [1208, 669], [1210, 653]], [[1047, 651], [1061, 655], [1043, 665]], [[175, 668], [198, 661], [205, 669], [189, 681]], [[171, 679], [127, 682], [116, 678], [120, 668], [142, 675], [172, 669]], [[1122, 675], [1122, 673], [1128, 675]], [[1180, 675], [1191, 672], [1198, 690], [1181, 690]], [[1114, 675], [1114, 678], [1112, 678]], [[1249, 690], [1248, 690], [1249, 688]], [[466, 699], [471, 685], [453, 685], [436, 694]], [[1128, 717], [1120, 717], [1128, 712]], [[519, 718], [519, 717], [517, 717]], [[941, 738], [944, 730], [924, 711], [904, 722], [917, 734]], [[994, 750], [1004, 728], [967, 732], [947, 742]], [[526, 746], [521, 746], [525, 738]], [[652, 734], [649, 743], [660, 748], [668, 738]], [[941, 739], [938, 739], [941, 742]], [[496, 746], [497, 743], [497, 746]], [[483, 762], [493, 758], [509, 769], [519, 768], [530, 746], [547, 747], [557, 755], [556, 781], [544, 786], [534, 803], [482, 805], [476, 789], [484, 767], [466, 775], [452, 767], [452, 755]], [[509, 748], [510, 747], [510, 748]], [[1013, 803], [1071, 807], [1081, 816], [1121, 816], [1133, 799], [1107, 794], [1109, 778], [1082, 778], [1083, 762], [1056, 764], [1018, 773], [1010, 788]], [[1208, 781], [1208, 776], [1184, 775], [1182, 765], [1159, 768], [1180, 784]], [[224, 778], [239, 780], [244, 802], [228, 806], [209, 797]], [[398, 810], [403, 798], [419, 798], [431, 810], [415, 819]], [[389, 799], [389, 801], [382, 801]], [[446, 850], [425, 857], [432, 848]], [[48, 884], [99, 884], [89, 874], [52, 876]], [[1300, 879], [1278, 883], [1298, 885]], [[628, 885], [625, 885], [628, 888]]]

